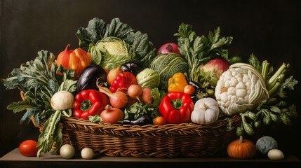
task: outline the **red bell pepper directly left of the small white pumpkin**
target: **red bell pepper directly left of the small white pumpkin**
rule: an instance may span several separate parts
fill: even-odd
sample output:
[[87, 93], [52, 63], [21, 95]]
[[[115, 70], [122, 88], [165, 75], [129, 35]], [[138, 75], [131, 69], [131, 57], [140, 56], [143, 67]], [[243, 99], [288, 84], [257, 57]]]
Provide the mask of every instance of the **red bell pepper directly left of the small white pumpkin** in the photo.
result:
[[159, 112], [170, 124], [189, 123], [193, 109], [192, 98], [183, 92], [168, 92], [159, 105]]

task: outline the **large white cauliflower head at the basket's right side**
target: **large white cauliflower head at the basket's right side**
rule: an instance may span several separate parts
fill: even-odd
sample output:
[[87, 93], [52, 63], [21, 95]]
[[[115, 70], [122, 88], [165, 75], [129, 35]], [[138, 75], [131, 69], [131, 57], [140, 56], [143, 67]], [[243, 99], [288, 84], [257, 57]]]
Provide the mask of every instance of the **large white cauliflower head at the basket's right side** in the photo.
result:
[[260, 73], [250, 64], [236, 63], [222, 73], [215, 87], [218, 105], [227, 116], [250, 111], [269, 98]]

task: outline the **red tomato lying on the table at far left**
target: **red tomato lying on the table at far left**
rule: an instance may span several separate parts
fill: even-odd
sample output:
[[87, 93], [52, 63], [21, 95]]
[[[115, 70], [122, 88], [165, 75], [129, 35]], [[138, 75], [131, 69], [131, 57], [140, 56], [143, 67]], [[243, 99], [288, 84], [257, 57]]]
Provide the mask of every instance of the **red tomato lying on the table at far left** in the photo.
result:
[[27, 157], [36, 156], [38, 150], [39, 149], [36, 148], [36, 141], [34, 140], [23, 141], [19, 146], [20, 153]]

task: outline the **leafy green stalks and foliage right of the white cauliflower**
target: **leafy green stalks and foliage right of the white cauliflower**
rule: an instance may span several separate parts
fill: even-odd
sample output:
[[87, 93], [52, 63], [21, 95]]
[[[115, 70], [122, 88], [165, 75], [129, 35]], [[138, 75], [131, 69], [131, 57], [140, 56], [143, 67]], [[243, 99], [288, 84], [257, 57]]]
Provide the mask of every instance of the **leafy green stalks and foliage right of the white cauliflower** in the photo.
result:
[[293, 119], [298, 116], [297, 107], [295, 104], [288, 105], [284, 98], [286, 98], [286, 90], [294, 90], [298, 81], [293, 76], [286, 78], [289, 64], [283, 63], [273, 74], [274, 67], [269, 66], [267, 60], [260, 62], [254, 54], [251, 54], [248, 61], [264, 77], [267, 90], [269, 90], [269, 99], [260, 102], [255, 111], [240, 113], [242, 122], [236, 134], [241, 135], [246, 132], [252, 135], [254, 134], [253, 127], [272, 123], [292, 125]]

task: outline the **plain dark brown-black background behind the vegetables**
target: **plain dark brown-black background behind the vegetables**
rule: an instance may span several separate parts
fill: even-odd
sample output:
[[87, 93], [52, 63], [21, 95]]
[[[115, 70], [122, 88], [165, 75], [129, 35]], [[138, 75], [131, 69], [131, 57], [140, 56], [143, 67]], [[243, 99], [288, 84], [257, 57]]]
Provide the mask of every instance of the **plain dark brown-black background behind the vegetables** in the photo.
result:
[[[13, 68], [34, 59], [39, 50], [55, 55], [70, 43], [77, 48], [75, 33], [92, 18], [110, 22], [120, 18], [133, 29], [149, 35], [155, 48], [176, 42], [181, 22], [193, 25], [199, 35], [221, 27], [222, 36], [233, 36], [231, 55], [248, 58], [254, 53], [268, 59], [276, 68], [290, 63], [290, 75], [300, 78], [301, 12], [294, 1], [92, 1], [92, 0], [1, 0], [0, 78], [7, 78]], [[300, 111], [300, 83], [290, 94], [290, 102]], [[19, 124], [24, 113], [6, 110], [20, 101], [19, 90], [5, 90], [0, 84], [0, 157], [27, 139], [37, 139], [39, 130], [32, 123]], [[291, 127], [276, 126], [260, 132], [271, 135], [279, 148], [300, 158], [301, 115]]]

